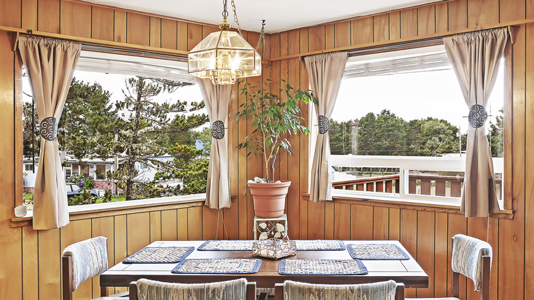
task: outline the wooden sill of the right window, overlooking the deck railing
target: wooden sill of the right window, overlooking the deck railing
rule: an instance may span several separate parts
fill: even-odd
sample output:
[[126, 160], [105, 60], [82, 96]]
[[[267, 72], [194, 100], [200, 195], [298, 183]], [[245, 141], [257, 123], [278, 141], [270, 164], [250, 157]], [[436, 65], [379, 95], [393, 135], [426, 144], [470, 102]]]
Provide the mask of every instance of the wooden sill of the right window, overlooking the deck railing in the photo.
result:
[[[352, 195], [351, 195], [352, 194]], [[450, 205], [450, 203], [423, 202], [418, 200], [392, 199], [389, 197], [363, 197], [354, 195], [352, 192], [333, 190], [333, 203], [348, 203], [359, 205], [371, 205], [384, 208], [402, 208], [406, 210], [422, 210], [425, 212], [443, 212], [446, 214], [461, 214], [459, 205]], [[309, 193], [303, 193], [303, 199], [309, 200]], [[491, 214], [492, 218], [513, 219], [513, 210], [500, 210], [498, 214]]]

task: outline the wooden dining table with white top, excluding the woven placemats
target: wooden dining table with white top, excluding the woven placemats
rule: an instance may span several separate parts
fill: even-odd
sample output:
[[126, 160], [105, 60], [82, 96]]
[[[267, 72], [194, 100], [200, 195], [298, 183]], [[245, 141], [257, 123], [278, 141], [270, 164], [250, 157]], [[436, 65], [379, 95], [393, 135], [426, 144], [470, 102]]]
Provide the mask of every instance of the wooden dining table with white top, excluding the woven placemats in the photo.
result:
[[[179, 247], [192, 246], [195, 250], [188, 255], [190, 258], [259, 258], [253, 257], [252, 251], [197, 251], [204, 241], [158, 241], [149, 247]], [[348, 244], [385, 243], [406, 249], [396, 240], [344, 240]], [[409, 255], [409, 253], [408, 253]], [[278, 265], [280, 260], [260, 258], [263, 260], [261, 268], [253, 274], [175, 274], [170, 273], [176, 263], [173, 264], [123, 264], [122, 262], [100, 275], [101, 286], [128, 286], [132, 281], [140, 278], [160, 280], [162, 282], [219, 282], [230, 279], [245, 277], [251, 282], [256, 282], [258, 287], [272, 288], [277, 282], [286, 279], [309, 282], [314, 284], [361, 284], [368, 282], [381, 282], [393, 279], [402, 282], [406, 288], [428, 288], [429, 276], [409, 255], [409, 260], [363, 260], [369, 273], [367, 275], [280, 275]], [[348, 251], [297, 251], [295, 256], [285, 259], [352, 259]]]

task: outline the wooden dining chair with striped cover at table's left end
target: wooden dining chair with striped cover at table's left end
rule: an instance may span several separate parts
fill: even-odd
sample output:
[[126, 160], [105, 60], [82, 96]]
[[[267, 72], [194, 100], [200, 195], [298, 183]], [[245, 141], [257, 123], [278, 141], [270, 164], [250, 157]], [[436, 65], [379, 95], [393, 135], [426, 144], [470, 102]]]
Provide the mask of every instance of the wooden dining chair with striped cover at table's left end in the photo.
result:
[[[107, 270], [107, 238], [97, 236], [75, 242], [63, 250], [62, 281], [63, 300], [72, 300], [73, 292], [86, 279], [100, 275]], [[127, 292], [108, 297], [107, 288], [100, 288], [101, 300], [125, 300]]]

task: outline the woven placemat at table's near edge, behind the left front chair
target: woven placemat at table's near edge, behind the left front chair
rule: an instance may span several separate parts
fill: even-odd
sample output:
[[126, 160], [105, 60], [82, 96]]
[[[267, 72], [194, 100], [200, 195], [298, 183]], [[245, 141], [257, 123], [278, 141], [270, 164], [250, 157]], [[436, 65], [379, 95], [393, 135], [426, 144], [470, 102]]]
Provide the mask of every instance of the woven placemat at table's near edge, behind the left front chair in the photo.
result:
[[202, 274], [250, 274], [257, 273], [262, 260], [255, 258], [195, 258], [183, 260], [173, 268], [173, 273]]

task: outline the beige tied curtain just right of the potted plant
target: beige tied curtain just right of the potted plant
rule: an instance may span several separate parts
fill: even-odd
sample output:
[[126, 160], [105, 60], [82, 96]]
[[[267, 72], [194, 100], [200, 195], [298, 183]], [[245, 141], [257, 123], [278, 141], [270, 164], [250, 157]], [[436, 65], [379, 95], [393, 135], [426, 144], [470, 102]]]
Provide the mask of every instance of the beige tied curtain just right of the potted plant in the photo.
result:
[[330, 173], [330, 140], [328, 130], [335, 100], [340, 90], [345, 71], [347, 53], [322, 53], [304, 58], [308, 71], [309, 84], [317, 97], [318, 136], [312, 163], [312, 182], [309, 200], [332, 200], [332, 177]]

